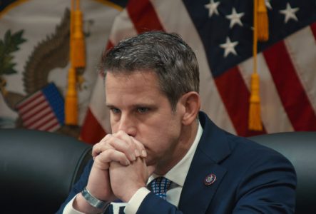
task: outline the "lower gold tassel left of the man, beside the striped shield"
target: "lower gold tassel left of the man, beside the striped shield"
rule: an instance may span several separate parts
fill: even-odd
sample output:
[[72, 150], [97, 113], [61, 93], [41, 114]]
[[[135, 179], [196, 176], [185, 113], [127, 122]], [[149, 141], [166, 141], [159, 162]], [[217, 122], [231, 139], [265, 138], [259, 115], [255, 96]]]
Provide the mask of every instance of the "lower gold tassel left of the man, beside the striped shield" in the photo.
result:
[[78, 98], [76, 91], [76, 69], [69, 68], [68, 88], [65, 101], [65, 123], [76, 126], [78, 124]]

